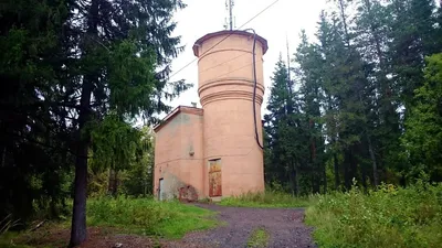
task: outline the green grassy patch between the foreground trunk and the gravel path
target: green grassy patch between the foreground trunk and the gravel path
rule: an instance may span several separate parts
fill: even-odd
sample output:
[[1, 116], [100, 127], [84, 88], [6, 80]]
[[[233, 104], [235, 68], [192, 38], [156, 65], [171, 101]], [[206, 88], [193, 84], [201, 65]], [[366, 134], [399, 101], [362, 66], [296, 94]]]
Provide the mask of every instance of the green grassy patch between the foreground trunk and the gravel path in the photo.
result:
[[143, 235], [180, 238], [188, 231], [217, 225], [213, 212], [175, 201], [118, 196], [91, 200], [87, 204], [91, 225], [119, 227]]

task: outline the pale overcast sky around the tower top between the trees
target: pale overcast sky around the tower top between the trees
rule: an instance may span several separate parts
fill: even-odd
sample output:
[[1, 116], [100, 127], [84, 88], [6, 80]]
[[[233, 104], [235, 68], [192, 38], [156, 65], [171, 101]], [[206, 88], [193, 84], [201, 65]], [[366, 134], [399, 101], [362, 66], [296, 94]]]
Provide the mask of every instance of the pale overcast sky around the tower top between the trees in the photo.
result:
[[[225, 0], [185, 0], [188, 7], [175, 14], [178, 22], [175, 35], [181, 35], [186, 51], [181, 53], [172, 63], [172, 74], [182, 66], [191, 62], [194, 56], [192, 52], [193, 43], [207, 33], [224, 30], [227, 18]], [[274, 0], [235, 0], [233, 13], [235, 15], [236, 28], [249, 21], [256, 13], [261, 12]], [[299, 42], [299, 32], [305, 29], [309, 36], [316, 32], [319, 13], [326, 9], [326, 0], [280, 0], [272, 8], [263, 12], [260, 17], [243, 26], [253, 28], [256, 33], [269, 42], [269, 51], [264, 55], [264, 78], [265, 96], [262, 112], [265, 110], [266, 99], [269, 98], [269, 86], [275, 63], [283, 54], [286, 58], [286, 37], [293, 53]], [[186, 69], [178, 73], [171, 80], [185, 78], [193, 83], [193, 88], [182, 94], [171, 103], [172, 107], [179, 105], [190, 106], [192, 101], [198, 103], [198, 64], [193, 63]]]

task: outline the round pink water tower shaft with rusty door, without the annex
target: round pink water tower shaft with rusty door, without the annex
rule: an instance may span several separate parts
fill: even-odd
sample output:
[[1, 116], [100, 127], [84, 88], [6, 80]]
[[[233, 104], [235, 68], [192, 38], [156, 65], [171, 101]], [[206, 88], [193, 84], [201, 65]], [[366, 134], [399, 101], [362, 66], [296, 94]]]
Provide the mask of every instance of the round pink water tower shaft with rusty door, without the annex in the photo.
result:
[[193, 45], [204, 116], [204, 194], [211, 197], [264, 191], [263, 150], [259, 143], [263, 144], [262, 57], [266, 51], [266, 40], [245, 31], [210, 33]]

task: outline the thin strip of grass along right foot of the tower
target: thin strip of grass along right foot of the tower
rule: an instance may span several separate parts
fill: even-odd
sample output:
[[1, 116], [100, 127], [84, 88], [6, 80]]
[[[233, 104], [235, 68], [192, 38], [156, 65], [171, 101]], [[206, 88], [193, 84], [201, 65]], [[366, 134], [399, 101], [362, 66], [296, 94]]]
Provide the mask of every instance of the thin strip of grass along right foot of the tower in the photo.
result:
[[316, 196], [293, 197], [291, 194], [266, 191], [265, 193], [245, 193], [223, 198], [219, 205], [238, 207], [307, 207], [314, 204]]

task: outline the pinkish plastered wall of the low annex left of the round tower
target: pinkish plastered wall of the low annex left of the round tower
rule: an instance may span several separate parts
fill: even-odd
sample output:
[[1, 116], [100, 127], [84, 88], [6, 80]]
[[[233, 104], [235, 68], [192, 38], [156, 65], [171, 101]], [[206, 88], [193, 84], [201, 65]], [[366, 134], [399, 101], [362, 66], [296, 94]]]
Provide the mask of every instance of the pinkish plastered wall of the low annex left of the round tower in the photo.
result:
[[[182, 108], [156, 130], [155, 194], [164, 180], [164, 198], [179, 197], [181, 187], [190, 197], [203, 197], [202, 111]], [[190, 186], [188, 188], [188, 186]]]

